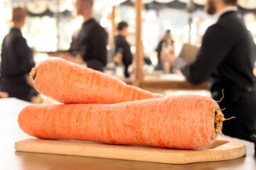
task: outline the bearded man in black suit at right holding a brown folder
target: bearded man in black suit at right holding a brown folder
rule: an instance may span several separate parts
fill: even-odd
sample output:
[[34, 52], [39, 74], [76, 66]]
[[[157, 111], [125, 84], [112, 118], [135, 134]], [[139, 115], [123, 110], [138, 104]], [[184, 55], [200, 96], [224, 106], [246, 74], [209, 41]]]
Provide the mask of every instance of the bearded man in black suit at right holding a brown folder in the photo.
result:
[[192, 84], [208, 80], [213, 99], [225, 108], [223, 134], [252, 141], [256, 134], [256, 46], [237, 12], [237, 0], [207, 0], [205, 10], [216, 14], [216, 23], [203, 35], [196, 59], [185, 63], [173, 55], [162, 60], [173, 62]]

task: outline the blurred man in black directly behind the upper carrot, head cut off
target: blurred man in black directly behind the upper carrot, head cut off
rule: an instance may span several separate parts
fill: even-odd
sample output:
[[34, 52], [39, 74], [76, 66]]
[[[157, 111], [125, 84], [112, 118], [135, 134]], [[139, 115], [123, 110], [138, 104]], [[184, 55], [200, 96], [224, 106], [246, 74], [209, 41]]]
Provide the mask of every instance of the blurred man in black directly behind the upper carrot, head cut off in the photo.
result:
[[92, 16], [93, 0], [76, 0], [77, 16], [82, 16], [84, 23], [73, 34], [69, 52], [63, 58], [103, 72], [107, 64], [107, 33]]

